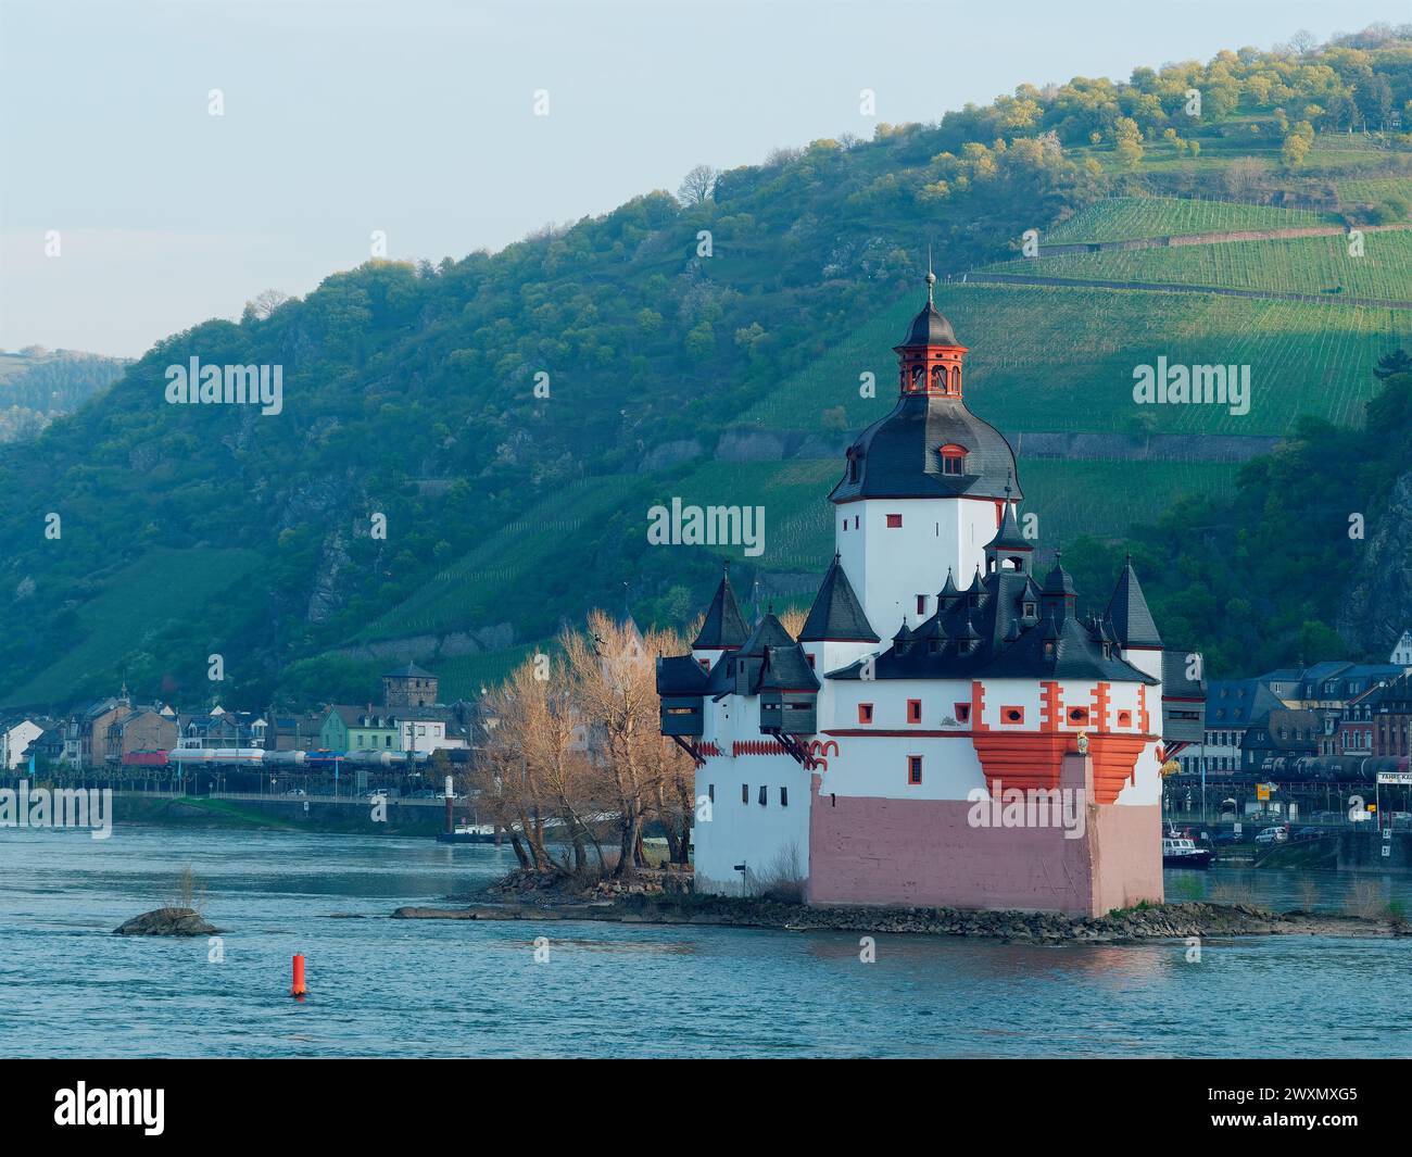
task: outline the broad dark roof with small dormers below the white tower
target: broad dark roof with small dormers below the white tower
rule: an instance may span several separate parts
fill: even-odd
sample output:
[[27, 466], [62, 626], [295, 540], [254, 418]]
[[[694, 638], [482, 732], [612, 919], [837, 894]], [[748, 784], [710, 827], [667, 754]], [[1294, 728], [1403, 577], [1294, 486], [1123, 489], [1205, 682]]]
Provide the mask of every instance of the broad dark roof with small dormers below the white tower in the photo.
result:
[[[994, 571], [974, 579], [957, 598], [943, 600], [931, 619], [899, 630], [892, 646], [873, 663], [878, 680], [943, 678], [1075, 678], [1108, 682], [1156, 680], [1118, 657], [1103, 653], [1100, 623], [1080, 623], [1060, 605], [1043, 620], [1024, 615], [1032, 600], [1029, 576]], [[1053, 653], [1046, 653], [1046, 643]], [[827, 678], [857, 680], [863, 661], [830, 671]]]

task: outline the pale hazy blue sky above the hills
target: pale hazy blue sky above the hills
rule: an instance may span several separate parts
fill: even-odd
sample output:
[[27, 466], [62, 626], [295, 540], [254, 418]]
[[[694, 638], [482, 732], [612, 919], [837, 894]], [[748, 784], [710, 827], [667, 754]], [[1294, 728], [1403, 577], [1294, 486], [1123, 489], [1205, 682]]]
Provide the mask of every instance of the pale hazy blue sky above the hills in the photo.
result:
[[702, 161], [1409, 17], [1408, 0], [0, 0], [0, 348], [138, 355], [260, 290], [308, 292], [373, 230], [390, 257], [460, 257], [675, 191]]

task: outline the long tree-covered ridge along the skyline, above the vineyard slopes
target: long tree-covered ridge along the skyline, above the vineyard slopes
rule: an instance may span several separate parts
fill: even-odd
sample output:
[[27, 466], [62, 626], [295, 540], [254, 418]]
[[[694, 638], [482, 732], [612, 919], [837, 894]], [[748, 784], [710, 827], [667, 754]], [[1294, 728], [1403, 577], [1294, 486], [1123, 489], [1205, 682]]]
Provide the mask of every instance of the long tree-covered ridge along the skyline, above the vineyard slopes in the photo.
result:
[[[1190, 88], [1200, 117], [1183, 112]], [[208, 696], [206, 655], [220, 651], [223, 702], [264, 705], [291, 664], [356, 641], [525, 511], [642, 469], [669, 476], [654, 452], [678, 441], [714, 445], [765, 390], [915, 292], [928, 243], [942, 270], [964, 270], [1103, 195], [1220, 194], [1230, 164], [1251, 157], [1281, 174], [1281, 194], [1319, 203], [1324, 168], [1385, 177], [1408, 140], [1391, 134], [1372, 155], [1320, 167], [1317, 147], [1284, 157], [1282, 117], [1291, 131], [1378, 127], [1388, 102], [1405, 110], [1409, 99], [1412, 48], [1395, 38], [1241, 49], [1125, 83], [1022, 86], [935, 124], [884, 124], [871, 141], [820, 140], [707, 172], [679, 198], [648, 194], [496, 254], [373, 261], [304, 299], [258, 301], [240, 324], [174, 335], [100, 403], [0, 458], [11, 544], [0, 605], [14, 623], [0, 640], [0, 698], [78, 698], [120, 675], [140, 694]], [[165, 404], [167, 367], [191, 357], [282, 366], [284, 413]], [[546, 398], [534, 391], [539, 373]], [[809, 422], [830, 408], [822, 401], [801, 400]], [[62, 516], [58, 540], [44, 535], [49, 511]], [[369, 533], [374, 513], [385, 540]], [[620, 605], [633, 579], [652, 619], [671, 588], [709, 581], [705, 555], [644, 566], [635, 516], [594, 509], [573, 531], [587, 537], [589, 565], [545, 551], [532, 589], [513, 593], [576, 617]], [[552, 542], [563, 533], [552, 521], [524, 533]], [[256, 551], [261, 562], [201, 615], [152, 615], [137, 643], [114, 633], [110, 667], [82, 685], [45, 682], [56, 655], [106, 630], [83, 607], [182, 582], [179, 562], [134, 566], [158, 550]], [[674, 596], [674, 613], [683, 602]]]

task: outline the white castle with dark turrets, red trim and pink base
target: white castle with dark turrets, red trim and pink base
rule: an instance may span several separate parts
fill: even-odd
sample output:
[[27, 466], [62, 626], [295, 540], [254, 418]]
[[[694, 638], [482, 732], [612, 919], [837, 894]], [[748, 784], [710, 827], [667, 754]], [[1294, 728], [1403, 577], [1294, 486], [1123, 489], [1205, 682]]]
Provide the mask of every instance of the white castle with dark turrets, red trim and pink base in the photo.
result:
[[1062, 565], [1034, 572], [1014, 451], [966, 407], [967, 349], [932, 284], [895, 346], [897, 405], [829, 496], [836, 552], [799, 639], [772, 612], [747, 624], [727, 572], [690, 654], [658, 660], [662, 733], [696, 761], [696, 887], [1161, 900], [1162, 682], [1180, 657], [1131, 564], [1089, 619]]

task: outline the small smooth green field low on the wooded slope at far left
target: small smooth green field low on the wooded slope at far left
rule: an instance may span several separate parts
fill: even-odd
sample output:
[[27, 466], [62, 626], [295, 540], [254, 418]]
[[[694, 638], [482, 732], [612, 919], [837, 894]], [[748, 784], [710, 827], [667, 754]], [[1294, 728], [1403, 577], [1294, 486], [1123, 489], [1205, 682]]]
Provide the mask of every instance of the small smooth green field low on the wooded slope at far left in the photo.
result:
[[[88, 688], [93, 671], [126, 663], [151, 641], [154, 623], [168, 615], [201, 622], [219, 615], [219, 595], [250, 575], [260, 562], [256, 551], [192, 548], [154, 550], [114, 574], [103, 593], [78, 615], [80, 643], [58, 655], [44, 671], [14, 691], [24, 704], [65, 702]], [[205, 664], [202, 651], [199, 663]], [[237, 657], [226, 655], [233, 665]]]

